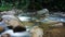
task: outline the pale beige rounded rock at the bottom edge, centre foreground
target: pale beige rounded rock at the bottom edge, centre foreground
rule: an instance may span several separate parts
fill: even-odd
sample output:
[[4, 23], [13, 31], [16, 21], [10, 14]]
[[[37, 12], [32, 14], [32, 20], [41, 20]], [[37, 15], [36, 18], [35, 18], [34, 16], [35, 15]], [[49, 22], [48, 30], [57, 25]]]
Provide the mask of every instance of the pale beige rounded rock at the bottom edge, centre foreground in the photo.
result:
[[34, 26], [32, 29], [30, 30], [30, 33], [31, 33], [31, 37], [42, 37], [43, 36], [43, 30], [38, 26]]

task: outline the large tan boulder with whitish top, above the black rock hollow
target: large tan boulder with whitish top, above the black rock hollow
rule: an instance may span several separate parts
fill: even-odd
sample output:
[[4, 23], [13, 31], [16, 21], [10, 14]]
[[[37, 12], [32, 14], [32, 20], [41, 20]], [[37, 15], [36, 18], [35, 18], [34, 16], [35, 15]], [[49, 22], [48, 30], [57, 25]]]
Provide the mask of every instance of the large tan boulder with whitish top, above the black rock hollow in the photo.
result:
[[2, 15], [3, 21], [8, 24], [8, 26], [17, 26], [21, 25], [20, 20], [14, 15]]

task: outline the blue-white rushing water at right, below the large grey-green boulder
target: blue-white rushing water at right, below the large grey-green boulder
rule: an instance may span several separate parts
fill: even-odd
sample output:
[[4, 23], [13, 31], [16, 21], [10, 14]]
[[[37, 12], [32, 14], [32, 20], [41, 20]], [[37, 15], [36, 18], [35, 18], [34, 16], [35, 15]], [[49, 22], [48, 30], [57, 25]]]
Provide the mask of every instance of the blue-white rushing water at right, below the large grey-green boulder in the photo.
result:
[[42, 22], [48, 22], [50, 20], [56, 22], [65, 22], [65, 16], [49, 15], [47, 18], [42, 20]]

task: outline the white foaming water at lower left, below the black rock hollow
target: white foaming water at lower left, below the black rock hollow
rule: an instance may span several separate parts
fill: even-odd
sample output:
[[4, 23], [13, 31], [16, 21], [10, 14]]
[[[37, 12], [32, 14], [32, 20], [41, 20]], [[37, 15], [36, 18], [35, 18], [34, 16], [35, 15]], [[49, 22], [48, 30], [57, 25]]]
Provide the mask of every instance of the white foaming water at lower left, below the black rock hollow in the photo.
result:
[[11, 37], [30, 37], [30, 33], [29, 32], [18, 32], [18, 33], [13, 33], [12, 29], [8, 29], [5, 30], [3, 34], [10, 34]]

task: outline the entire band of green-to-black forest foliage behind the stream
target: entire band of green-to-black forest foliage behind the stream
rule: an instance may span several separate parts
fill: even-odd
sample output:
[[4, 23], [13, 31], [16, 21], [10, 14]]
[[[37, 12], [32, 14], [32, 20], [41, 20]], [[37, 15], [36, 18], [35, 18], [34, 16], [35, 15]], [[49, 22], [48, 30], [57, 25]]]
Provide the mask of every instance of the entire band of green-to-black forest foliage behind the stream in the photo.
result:
[[49, 11], [65, 11], [65, 0], [0, 0], [0, 11], [13, 8], [27, 11], [38, 11], [44, 8]]

